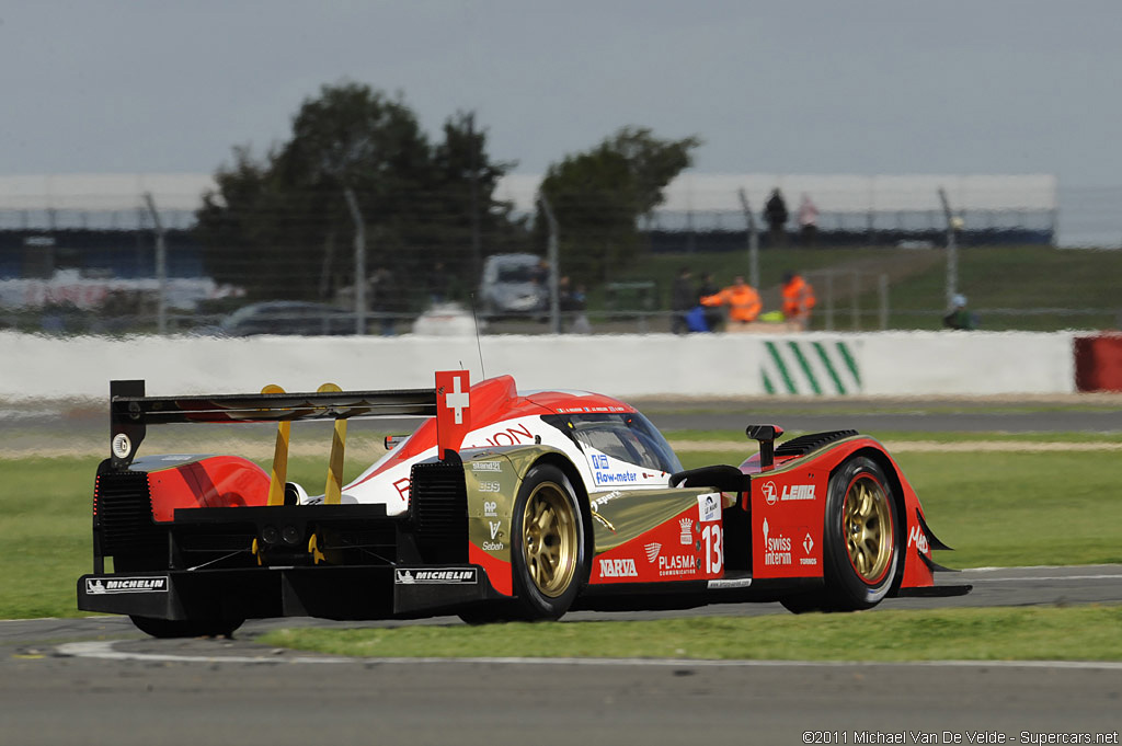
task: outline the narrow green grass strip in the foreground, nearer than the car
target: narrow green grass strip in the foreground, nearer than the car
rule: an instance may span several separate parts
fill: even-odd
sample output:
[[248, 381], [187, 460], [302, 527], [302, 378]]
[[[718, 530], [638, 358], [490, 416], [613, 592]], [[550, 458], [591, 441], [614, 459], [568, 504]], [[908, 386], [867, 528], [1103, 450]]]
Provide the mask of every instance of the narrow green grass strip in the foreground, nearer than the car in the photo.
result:
[[[282, 629], [277, 647], [358, 657], [1120, 661], [1122, 606], [879, 610], [486, 626]], [[1078, 635], [1072, 630], [1078, 629]]]

